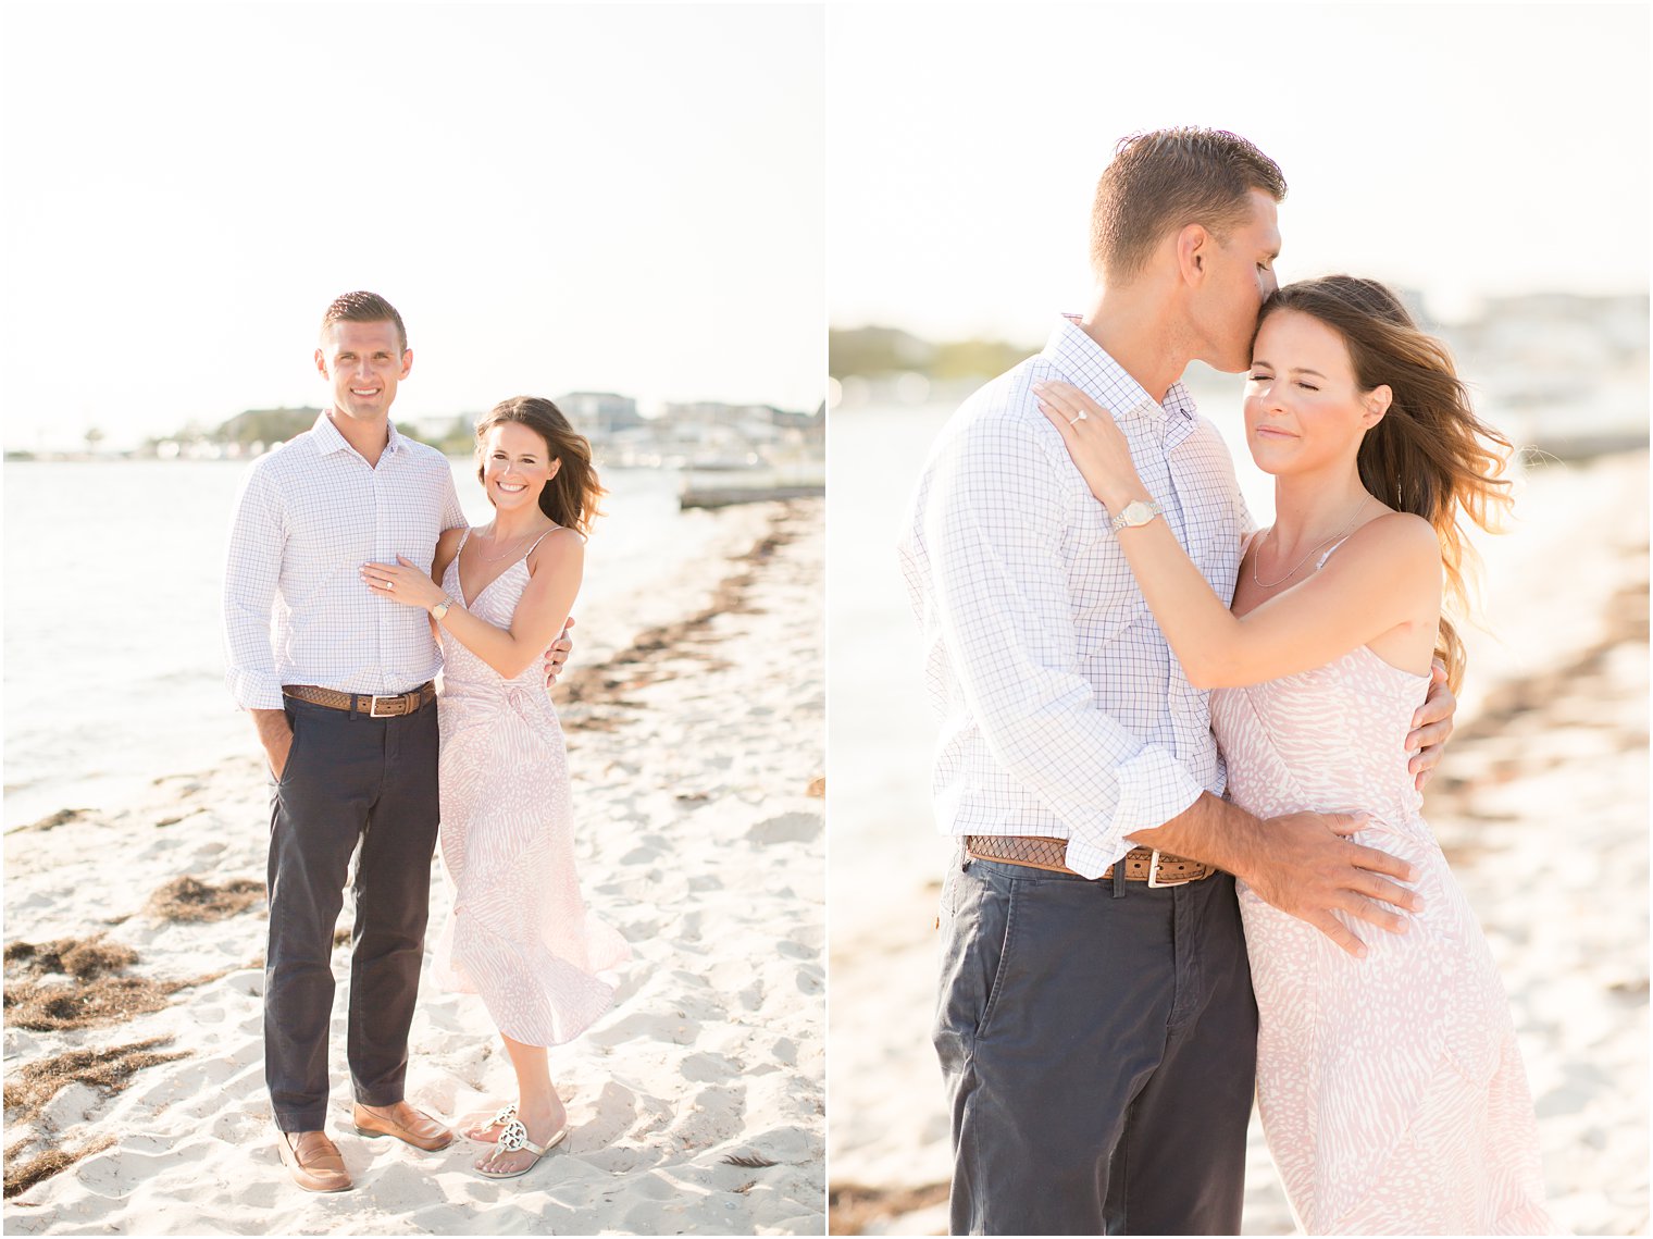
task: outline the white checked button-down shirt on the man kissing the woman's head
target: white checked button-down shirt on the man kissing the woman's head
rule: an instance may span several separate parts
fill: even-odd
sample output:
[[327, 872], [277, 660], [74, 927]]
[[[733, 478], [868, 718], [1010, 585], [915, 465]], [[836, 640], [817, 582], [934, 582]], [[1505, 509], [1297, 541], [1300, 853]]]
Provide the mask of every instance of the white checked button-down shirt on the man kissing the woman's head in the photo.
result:
[[1112, 412], [1177, 541], [1227, 600], [1250, 526], [1233, 460], [1182, 384], [1164, 405], [1073, 321], [975, 392], [942, 430], [901, 538], [942, 715], [942, 834], [1050, 835], [1099, 875], [1220, 794], [1208, 695], [1172, 657], [1098, 503], [1031, 384]]

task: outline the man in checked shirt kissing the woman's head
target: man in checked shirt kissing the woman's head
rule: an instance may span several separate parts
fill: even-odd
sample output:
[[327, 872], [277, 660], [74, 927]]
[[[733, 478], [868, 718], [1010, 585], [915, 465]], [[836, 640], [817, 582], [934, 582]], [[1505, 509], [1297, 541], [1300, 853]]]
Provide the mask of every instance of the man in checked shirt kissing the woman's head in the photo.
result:
[[[1116, 543], [1164, 519], [1233, 594], [1250, 516], [1179, 379], [1250, 366], [1284, 192], [1231, 134], [1121, 142], [1091, 311], [965, 402], [914, 498], [936, 812], [960, 837], [936, 1021], [957, 1234], [1238, 1234], [1256, 1006], [1233, 875], [1355, 953], [1332, 910], [1402, 931], [1393, 907], [1413, 903], [1403, 862], [1346, 839], [1359, 816], [1260, 822], [1222, 801], [1207, 693]], [[1157, 509], [1094, 501], [1038, 409], [1050, 379], [1114, 412]], [[1453, 706], [1433, 693], [1407, 739], [1431, 746], [1420, 779]]]

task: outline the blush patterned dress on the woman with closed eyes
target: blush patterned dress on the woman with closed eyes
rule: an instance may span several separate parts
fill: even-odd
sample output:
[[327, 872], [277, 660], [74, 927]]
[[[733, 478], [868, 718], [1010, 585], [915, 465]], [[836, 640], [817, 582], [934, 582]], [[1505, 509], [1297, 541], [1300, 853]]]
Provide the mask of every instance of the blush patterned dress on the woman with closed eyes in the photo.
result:
[[1365, 809], [1355, 842], [1408, 860], [1423, 897], [1405, 935], [1362, 925], [1355, 959], [1240, 883], [1263, 1131], [1309, 1234], [1559, 1234], [1509, 1001], [1407, 771], [1427, 690], [1360, 647], [1212, 693], [1238, 806]]

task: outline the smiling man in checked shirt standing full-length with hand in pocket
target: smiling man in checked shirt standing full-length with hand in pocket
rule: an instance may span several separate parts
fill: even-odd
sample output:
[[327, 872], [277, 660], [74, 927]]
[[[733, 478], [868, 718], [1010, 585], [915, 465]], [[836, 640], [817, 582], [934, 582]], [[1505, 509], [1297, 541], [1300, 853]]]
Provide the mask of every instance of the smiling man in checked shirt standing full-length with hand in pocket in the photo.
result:
[[264, 1075], [281, 1160], [307, 1191], [350, 1188], [324, 1125], [332, 931], [357, 842], [355, 1128], [423, 1150], [453, 1140], [403, 1100], [436, 845], [441, 653], [423, 610], [377, 597], [357, 574], [398, 554], [428, 571], [441, 531], [464, 524], [448, 460], [390, 422], [412, 366], [390, 303], [337, 298], [316, 349], [331, 407], [248, 468], [230, 533], [226, 678], [273, 777]]

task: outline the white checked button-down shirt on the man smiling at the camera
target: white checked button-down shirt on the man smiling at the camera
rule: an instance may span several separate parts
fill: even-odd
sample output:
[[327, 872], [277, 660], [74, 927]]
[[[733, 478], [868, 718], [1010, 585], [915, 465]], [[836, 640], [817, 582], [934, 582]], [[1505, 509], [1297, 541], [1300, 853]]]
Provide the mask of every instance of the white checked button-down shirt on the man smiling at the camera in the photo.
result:
[[260, 457], [235, 501], [223, 586], [226, 682], [236, 705], [279, 710], [281, 685], [390, 695], [441, 668], [420, 607], [375, 596], [357, 569], [403, 556], [426, 572], [464, 524], [448, 460], [390, 427], [369, 465], [324, 412]]

